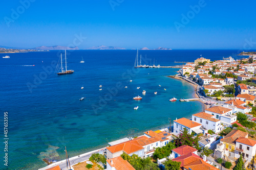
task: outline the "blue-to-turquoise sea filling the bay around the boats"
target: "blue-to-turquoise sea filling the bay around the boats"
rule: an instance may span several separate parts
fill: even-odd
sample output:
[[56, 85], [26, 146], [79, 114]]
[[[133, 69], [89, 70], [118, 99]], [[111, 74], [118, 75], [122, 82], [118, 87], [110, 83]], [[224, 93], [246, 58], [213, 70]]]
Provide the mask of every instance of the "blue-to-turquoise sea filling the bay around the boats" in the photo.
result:
[[[200, 102], [169, 102], [173, 97], [192, 98], [195, 89], [167, 77], [175, 75], [177, 68], [134, 68], [136, 50], [67, 51], [68, 69], [75, 72], [58, 76], [54, 72], [60, 53], [65, 54], [14, 53], [8, 54], [10, 59], [2, 58], [6, 54], [0, 55], [0, 125], [4, 129], [4, 112], [8, 112], [9, 169], [44, 167], [44, 158], [65, 159], [65, 146], [70, 157], [76, 156], [113, 140], [167, 127], [168, 118], [190, 118], [202, 111]], [[161, 66], [194, 61], [200, 55], [221, 60], [237, 53], [238, 50], [139, 51], [142, 64]], [[80, 63], [81, 57], [84, 63]], [[137, 95], [143, 99], [134, 101]], [[86, 99], [79, 101], [81, 97]], [[139, 109], [134, 110], [135, 106]], [[2, 147], [3, 159], [5, 145]], [[7, 169], [2, 159], [0, 169]]]

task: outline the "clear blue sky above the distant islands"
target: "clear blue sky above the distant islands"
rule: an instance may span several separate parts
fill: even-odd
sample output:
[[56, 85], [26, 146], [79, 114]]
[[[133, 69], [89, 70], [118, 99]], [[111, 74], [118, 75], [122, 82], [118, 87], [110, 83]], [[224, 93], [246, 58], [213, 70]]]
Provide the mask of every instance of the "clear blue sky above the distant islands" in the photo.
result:
[[[195, 6], [200, 8], [196, 12], [191, 9]], [[4, 1], [0, 45], [32, 48], [75, 42], [79, 49], [98, 45], [243, 49], [251, 39], [255, 49], [255, 6], [255, 1], [214, 0]], [[78, 43], [76, 35], [86, 39]]]

